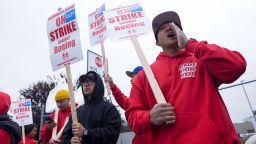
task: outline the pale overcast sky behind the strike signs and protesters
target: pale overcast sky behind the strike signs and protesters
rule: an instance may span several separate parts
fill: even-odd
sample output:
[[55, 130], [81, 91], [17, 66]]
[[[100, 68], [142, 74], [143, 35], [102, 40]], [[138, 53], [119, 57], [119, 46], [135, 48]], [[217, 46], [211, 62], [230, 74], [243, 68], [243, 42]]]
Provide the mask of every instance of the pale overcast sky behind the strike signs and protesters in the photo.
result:
[[[100, 46], [90, 47], [88, 14], [105, 2], [106, 10], [119, 5], [140, 3], [150, 21], [157, 14], [173, 10], [181, 18], [187, 37], [207, 40], [228, 49], [239, 51], [247, 60], [247, 71], [241, 79], [255, 79], [256, 2], [254, 0], [0, 0], [0, 90], [18, 96], [18, 90], [47, 75], [64, 72], [52, 71], [46, 31], [47, 18], [59, 7], [76, 5], [81, 46], [84, 60], [71, 66], [72, 77], [86, 73], [87, 50], [101, 54]], [[139, 38], [149, 63], [160, 47], [155, 45], [153, 33]], [[109, 73], [115, 83], [129, 95], [130, 79], [126, 70], [140, 65], [131, 41], [105, 42]], [[255, 99], [254, 99], [255, 100]]]

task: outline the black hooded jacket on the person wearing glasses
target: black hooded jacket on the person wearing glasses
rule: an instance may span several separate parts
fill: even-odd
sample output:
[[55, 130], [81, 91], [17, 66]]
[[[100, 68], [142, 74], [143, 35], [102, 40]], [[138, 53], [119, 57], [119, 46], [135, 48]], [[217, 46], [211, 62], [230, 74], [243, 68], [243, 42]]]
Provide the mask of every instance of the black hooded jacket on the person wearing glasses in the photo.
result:
[[[97, 73], [94, 74], [97, 80], [91, 99], [84, 95], [85, 104], [77, 109], [78, 122], [88, 130], [82, 144], [115, 144], [120, 133], [121, 118], [116, 107], [103, 99], [102, 79]], [[71, 124], [70, 118], [62, 134], [63, 144], [69, 144], [73, 137]]]

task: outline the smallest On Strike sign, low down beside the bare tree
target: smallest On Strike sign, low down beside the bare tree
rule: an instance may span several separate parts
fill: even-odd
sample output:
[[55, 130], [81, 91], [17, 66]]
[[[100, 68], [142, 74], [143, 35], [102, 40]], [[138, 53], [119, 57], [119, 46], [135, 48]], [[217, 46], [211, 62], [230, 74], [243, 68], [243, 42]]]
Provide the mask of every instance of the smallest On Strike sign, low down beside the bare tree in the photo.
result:
[[24, 99], [12, 102], [13, 121], [20, 126], [25, 126], [33, 123], [31, 100]]

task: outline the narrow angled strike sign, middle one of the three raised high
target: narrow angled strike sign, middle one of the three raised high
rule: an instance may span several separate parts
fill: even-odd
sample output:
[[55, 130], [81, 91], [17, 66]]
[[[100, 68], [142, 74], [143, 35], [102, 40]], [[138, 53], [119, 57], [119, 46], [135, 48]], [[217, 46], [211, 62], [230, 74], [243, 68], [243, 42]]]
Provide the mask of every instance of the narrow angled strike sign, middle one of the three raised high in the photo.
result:
[[107, 27], [104, 13], [105, 4], [88, 16], [90, 45], [95, 46], [107, 38]]

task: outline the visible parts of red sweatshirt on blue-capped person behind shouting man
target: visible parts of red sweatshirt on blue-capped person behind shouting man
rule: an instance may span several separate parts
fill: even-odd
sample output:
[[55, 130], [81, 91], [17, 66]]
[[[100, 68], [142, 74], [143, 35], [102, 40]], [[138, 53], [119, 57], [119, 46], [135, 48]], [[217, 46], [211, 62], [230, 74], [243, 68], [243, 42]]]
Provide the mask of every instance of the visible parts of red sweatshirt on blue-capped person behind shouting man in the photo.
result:
[[[129, 103], [129, 98], [127, 96], [125, 96], [121, 90], [114, 85], [111, 88], [112, 94], [115, 97], [116, 102], [120, 105], [120, 107], [124, 110], [126, 110], [128, 108], [128, 106], [130, 105]], [[152, 142], [152, 137], [151, 137], [151, 132], [148, 132], [146, 134], [135, 134], [132, 143], [133, 144], [151, 144]]]

